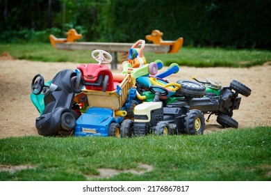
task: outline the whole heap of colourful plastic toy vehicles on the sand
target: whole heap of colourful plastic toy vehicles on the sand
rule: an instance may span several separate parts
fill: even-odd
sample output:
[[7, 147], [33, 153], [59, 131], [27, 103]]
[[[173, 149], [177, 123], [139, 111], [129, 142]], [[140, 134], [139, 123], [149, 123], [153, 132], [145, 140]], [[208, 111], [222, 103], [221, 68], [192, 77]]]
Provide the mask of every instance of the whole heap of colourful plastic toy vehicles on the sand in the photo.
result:
[[112, 61], [108, 52], [95, 50], [97, 64], [61, 70], [46, 84], [42, 75], [35, 75], [31, 100], [40, 112], [35, 123], [38, 134], [50, 136], [60, 130], [100, 137], [203, 134], [204, 114], [208, 119], [217, 115], [217, 123], [224, 127], [238, 127], [231, 116], [240, 106], [238, 94], [250, 95], [247, 86], [236, 80], [227, 87], [212, 79], [168, 82], [165, 77], [179, 72], [179, 65], [172, 63], [158, 73], [163, 62], [147, 63], [144, 47], [144, 40], [131, 47], [121, 73], [106, 65]]

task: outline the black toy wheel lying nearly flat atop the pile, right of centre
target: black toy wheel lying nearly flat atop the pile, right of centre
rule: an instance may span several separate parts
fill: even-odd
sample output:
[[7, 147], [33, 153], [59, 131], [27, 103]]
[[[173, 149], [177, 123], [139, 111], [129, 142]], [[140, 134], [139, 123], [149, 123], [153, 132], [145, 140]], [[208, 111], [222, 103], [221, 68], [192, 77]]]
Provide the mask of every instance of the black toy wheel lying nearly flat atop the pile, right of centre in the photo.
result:
[[176, 91], [177, 94], [185, 98], [202, 98], [205, 95], [205, 86], [194, 81], [179, 80], [177, 84], [181, 84], [181, 88]]

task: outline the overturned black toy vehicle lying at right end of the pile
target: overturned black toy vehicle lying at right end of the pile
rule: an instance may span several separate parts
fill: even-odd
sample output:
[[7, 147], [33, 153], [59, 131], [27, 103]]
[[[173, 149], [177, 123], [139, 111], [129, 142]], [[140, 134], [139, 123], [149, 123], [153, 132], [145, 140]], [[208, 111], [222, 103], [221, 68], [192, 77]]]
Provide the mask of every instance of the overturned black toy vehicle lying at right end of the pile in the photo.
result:
[[179, 101], [172, 102], [172, 104], [187, 102], [190, 109], [199, 109], [204, 114], [209, 114], [207, 121], [212, 114], [215, 114], [217, 123], [223, 127], [238, 128], [238, 122], [232, 118], [233, 110], [240, 107], [241, 97], [238, 94], [248, 97], [252, 90], [236, 80], [224, 87], [213, 79], [206, 79], [206, 81], [195, 79], [195, 81], [177, 81], [181, 84], [181, 88], [176, 91], [176, 95], [184, 98], [180, 98]]

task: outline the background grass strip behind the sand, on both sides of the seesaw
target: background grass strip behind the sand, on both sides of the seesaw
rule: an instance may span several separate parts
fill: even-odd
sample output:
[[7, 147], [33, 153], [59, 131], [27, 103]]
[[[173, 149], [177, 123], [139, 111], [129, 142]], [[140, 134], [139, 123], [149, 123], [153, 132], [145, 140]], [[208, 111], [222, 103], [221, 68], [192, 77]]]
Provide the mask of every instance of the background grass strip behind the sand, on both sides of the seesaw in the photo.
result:
[[[0, 44], [0, 54], [8, 52], [17, 59], [31, 61], [94, 63], [91, 51], [56, 50], [45, 43]], [[128, 52], [128, 51], [127, 51]], [[249, 67], [271, 61], [271, 52], [256, 49], [221, 49], [183, 47], [176, 54], [145, 52], [147, 62], [160, 59], [165, 65], [178, 63], [195, 67]]]

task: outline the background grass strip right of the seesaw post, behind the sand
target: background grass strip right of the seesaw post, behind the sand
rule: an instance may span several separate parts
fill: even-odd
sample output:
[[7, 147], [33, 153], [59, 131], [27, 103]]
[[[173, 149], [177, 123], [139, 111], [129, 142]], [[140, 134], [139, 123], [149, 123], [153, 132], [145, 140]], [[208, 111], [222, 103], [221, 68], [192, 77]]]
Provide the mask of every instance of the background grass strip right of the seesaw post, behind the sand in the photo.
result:
[[[145, 54], [149, 61], [156, 59], [156, 54]], [[271, 61], [271, 51], [249, 49], [191, 48], [183, 47], [176, 54], [159, 54], [166, 64], [178, 63], [194, 67], [250, 67], [263, 65]]]

